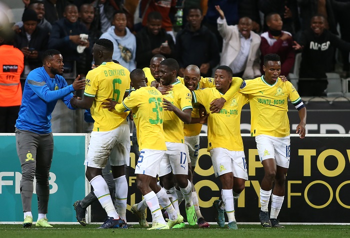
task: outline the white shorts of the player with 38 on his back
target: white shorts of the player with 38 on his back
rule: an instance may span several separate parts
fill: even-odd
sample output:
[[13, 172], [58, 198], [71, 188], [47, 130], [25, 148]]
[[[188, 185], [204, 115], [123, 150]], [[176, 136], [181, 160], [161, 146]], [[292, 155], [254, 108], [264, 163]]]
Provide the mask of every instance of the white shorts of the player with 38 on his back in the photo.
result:
[[135, 174], [146, 174], [156, 177], [164, 153], [165, 150], [141, 149], [135, 166]]

